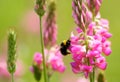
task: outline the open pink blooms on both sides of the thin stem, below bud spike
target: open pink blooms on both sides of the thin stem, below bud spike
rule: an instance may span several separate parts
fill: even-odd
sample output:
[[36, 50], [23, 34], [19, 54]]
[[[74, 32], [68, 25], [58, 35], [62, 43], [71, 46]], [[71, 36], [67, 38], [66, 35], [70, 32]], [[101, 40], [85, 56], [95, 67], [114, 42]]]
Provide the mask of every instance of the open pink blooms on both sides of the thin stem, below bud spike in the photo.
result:
[[[45, 58], [46, 58], [46, 67], [47, 69], [58, 71], [58, 72], [64, 72], [65, 71], [65, 65], [62, 60], [62, 55], [59, 51], [58, 46], [51, 47], [50, 50], [45, 49]], [[33, 62], [37, 66], [39, 66], [40, 69], [42, 69], [42, 54], [41, 53], [35, 53]], [[31, 71], [34, 71], [33, 69]]]

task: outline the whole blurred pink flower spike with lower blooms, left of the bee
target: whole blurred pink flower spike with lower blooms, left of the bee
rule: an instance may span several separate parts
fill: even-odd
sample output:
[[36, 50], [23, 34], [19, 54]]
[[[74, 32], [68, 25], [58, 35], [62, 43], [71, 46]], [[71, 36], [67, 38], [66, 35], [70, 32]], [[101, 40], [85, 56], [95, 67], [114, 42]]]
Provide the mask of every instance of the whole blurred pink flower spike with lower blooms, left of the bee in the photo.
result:
[[[63, 73], [65, 71], [65, 65], [63, 63], [63, 56], [59, 51], [59, 46], [56, 45], [57, 39], [57, 25], [55, 14], [55, 1], [50, 1], [48, 5], [48, 11], [45, 13], [43, 20], [43, 38], [45, 45], [45, 64], [48, 70], [48, 75], [51, 76], [53, 71]], [[43, 70], [43, 56], [40, 53], [35, 53], [33, 58], [34, 65]], [[31, 68], [34, 72], [34, 68]]]

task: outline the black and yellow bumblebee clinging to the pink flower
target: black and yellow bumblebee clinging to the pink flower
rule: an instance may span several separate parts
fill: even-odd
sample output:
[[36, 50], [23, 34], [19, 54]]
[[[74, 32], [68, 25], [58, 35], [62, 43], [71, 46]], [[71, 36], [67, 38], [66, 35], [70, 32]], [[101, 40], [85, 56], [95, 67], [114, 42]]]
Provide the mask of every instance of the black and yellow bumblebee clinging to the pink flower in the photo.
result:
[[61, 47], [60, 47], [60, 52], [62, 53], [62, 55], [66, 56], [68, 54], [70, 54], [70, 52], [67, 51], [67, 49], [70, 46], [71, 41], [70, 40], [63, 40], [63, 42], [61, 43]]

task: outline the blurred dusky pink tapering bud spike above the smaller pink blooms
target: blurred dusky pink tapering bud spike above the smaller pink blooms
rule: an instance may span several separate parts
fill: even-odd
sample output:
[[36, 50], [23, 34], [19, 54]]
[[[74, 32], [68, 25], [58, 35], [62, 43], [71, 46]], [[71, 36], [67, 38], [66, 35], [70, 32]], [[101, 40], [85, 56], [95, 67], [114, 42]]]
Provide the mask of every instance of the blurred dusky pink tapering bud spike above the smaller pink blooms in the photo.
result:
[[57, 39], [57, 24], [54, 1], [51, 2], [49, 5], [49, 11], [45, 14], [43, 27], [45, 47], [51, 47], [55, 45]]

